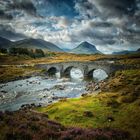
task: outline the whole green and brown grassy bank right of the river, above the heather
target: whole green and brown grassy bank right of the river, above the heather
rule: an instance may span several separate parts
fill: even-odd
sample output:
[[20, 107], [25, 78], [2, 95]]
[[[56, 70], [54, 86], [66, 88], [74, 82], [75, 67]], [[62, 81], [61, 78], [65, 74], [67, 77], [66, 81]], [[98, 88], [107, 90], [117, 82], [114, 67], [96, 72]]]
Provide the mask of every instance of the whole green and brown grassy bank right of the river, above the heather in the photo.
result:
[[[106, 91], [77, 99], [61, 100], [37, 108], [65, 126], [83, 128], [117, 128], [140, 137], [140, 72], [117, 72], [106, 85]], [[112, 84], [112, 85], [111, 85]], [[112, 87], [112, 88], [111, 88]]]

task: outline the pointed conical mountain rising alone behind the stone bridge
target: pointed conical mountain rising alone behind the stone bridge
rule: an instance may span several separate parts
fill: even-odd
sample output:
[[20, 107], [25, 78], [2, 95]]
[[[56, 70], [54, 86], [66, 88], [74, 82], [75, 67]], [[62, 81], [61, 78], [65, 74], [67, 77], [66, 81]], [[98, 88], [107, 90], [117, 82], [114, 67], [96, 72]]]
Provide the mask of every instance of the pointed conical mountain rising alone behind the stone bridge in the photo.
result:
[[71, 50], [76, 54], [102, 54], [96, 47], [88, 42], [82, 42], [79, 46]]

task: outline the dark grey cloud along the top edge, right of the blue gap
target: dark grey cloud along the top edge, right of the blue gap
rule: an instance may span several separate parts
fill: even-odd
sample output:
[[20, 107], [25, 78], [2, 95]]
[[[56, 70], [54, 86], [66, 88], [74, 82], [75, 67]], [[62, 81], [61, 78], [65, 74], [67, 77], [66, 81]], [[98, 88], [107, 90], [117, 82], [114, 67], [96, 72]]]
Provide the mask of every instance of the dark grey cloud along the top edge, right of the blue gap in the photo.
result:
[[77, 3], [76, 8], [82, 15], [89, 18], [100, 16], [109, 18], [111, 16], [134, 15], [137, 9], [136, 0], [82, 0]]

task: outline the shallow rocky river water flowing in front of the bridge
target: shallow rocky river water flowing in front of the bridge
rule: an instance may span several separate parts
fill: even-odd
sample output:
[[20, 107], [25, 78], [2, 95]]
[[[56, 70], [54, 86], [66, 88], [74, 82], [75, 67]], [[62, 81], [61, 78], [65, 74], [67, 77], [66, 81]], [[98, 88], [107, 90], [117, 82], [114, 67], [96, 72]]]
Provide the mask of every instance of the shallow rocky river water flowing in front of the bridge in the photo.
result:
[[79, 97], [86, 82], [32, 77], [0, 84], [0, 110], [17, 110], [23, 104], [47, 105], [62, 97]]

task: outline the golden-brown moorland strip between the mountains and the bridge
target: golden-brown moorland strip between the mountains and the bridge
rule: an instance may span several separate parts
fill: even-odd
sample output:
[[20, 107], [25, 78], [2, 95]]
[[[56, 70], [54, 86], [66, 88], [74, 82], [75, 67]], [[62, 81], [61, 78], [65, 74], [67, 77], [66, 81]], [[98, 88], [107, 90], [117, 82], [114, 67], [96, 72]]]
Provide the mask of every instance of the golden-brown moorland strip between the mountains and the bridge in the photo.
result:
[[50, 53], [46, 52], [46, 57], [30, 58], [25, 55], [10, 56], [0, 54], [0, 64], [41, 64], [41, 63], [57, 63], [68, 61], [95, 61], [95, 60], [112, 60], [119, 64], [139, 64], [140, 54], [135, 55], [82, 55], [70, 53]]

